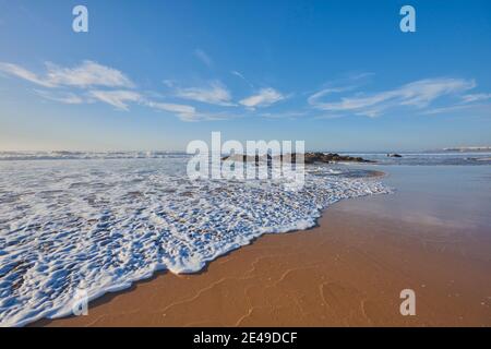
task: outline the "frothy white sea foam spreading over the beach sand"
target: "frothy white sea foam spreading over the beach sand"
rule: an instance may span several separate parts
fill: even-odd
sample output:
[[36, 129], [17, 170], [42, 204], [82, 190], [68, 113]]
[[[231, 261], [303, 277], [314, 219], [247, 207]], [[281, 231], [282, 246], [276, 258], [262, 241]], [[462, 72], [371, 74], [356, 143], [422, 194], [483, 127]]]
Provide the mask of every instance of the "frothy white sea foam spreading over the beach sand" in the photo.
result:
[[197, 272], [266, 232], [315, 225], [327, 205], [386, 193], [310, 168], [277, 181], [189, 181], [187, 158], [0, 161], [0, 324], [71, 312], [74, 296], [121, 290], [157, 269]]

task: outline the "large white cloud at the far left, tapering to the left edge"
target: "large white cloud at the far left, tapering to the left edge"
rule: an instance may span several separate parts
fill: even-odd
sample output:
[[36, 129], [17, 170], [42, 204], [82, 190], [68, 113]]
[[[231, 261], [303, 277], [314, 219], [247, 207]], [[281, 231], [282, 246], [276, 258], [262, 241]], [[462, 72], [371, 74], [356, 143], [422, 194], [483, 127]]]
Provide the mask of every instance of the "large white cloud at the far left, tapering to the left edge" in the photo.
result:
[[74, 68], [62, 68], [53, 63], [46, 63], [47, 72], [39, 76], [23, 67], [0, 62], [0, 71], [24, 79], [44, 87], [80, 87], [91, 86], [131, 88], [134, 84], [123, 73], [113, 68], [93, 61], [83, 61]]

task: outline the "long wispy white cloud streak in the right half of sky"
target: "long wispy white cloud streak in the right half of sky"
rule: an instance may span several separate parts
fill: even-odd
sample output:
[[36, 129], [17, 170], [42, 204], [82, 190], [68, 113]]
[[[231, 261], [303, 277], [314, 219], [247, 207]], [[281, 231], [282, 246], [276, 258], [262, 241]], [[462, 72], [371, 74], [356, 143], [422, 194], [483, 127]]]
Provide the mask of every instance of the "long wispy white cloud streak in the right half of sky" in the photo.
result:
[[320, 99], [330, 93], [340, 91], [321, 91], [309, 97], [308, 101], [311, 106], [320, 110], [378, 117], [387, 109], [398, 106], [423, 108], [436, 98], [460, 94], [474, 87], [476, 87], [474, 80], [426, 79], [403, 85], [395, 89], [371, 95], [358, 93], [350, 97], [343, 97], [338, 101], [330, 103], [321, 101]]

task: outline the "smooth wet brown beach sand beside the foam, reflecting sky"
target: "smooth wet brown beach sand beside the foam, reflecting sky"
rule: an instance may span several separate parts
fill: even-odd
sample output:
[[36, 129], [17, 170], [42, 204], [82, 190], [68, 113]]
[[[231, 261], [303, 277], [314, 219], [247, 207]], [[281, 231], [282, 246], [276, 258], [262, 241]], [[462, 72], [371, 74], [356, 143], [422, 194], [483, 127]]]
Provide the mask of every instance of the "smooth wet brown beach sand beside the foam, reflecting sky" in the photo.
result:
[[[453, 200], [441, 178], [462, 170], [445, 170], [428, 180], [390, 169], [395, 194], [343, 201], [319, 227], [263, 236], [199, 274], [159, 273], [91, 302], [87, 316], [33, 325], [491, 326], [489, 193]], [[415, 316], [399, 313], [403, 289], [416, 292]]]

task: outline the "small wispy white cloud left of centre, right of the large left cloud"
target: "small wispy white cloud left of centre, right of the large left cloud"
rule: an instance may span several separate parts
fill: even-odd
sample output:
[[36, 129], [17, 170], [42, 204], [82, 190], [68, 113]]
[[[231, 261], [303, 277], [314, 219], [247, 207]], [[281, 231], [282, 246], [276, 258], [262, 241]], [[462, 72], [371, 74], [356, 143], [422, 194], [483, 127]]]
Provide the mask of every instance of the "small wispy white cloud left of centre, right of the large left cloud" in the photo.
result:
[[211, 82], [206, 87], [178, 88], [176, 96], [218, 106], [233, 106], [228, 89], [218, 81]]

